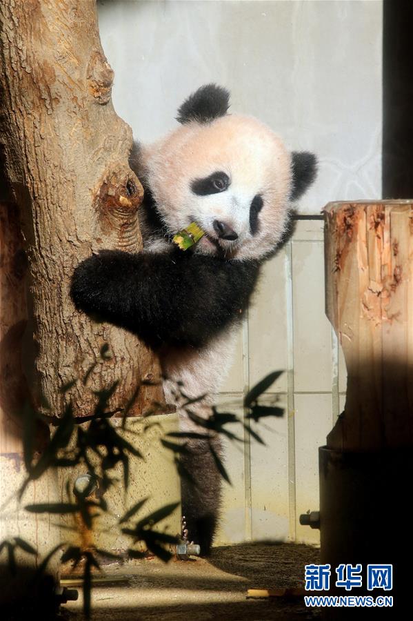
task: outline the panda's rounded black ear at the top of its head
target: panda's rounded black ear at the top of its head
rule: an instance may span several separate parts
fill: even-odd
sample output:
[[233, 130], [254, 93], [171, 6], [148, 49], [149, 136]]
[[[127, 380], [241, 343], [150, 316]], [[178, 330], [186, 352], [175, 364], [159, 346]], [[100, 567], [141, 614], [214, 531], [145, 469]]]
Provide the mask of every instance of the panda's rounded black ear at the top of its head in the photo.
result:
[[224, 117], [230, 107], [230, 93], [222, 86], [205, 84], [185, 99], [178, 109], [179, 123], [209, 123], [218, 117]]

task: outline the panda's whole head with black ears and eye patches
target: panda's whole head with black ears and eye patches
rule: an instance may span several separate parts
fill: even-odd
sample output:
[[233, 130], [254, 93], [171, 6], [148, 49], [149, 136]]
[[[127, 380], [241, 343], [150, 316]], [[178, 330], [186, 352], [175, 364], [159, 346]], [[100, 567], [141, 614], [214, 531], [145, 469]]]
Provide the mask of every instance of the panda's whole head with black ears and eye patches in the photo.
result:
[[178, 110], [181, 125], [141, 148], [139, 172], [168, 234], [196, 222], [205, 231], [197, 253], [259, 259], [283, 238], [316, 158], [289, 152], [268, 126], [228, 107], [224, 88], [199, 88]]

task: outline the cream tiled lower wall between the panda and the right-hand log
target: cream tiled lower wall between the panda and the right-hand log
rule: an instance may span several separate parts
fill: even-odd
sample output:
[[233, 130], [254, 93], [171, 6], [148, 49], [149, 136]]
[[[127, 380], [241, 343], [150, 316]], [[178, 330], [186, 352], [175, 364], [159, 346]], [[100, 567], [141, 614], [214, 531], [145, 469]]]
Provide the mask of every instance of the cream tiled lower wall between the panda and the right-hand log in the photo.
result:
[[[319, 509], [317, 449], [343, 409], [346, 379], [341, 350], [324, 314], [322, 220], [297, 221], [290, 242], [265, 265], [243, 332], [247, 338], [239, 344], [234, 373], [239, 377], [243, 371], [247, 387], [270, 371], [285, 369], [268, 395], [278, 397], [285, 416], [256, 427], [266, 446], [252, 439], [243, 459], [234, 447], [228, 453], [234, 485], [224, 487], [218, 542], [317, 543], [319, 531], [300, 526], [299, 515]], [[222, 399], [241, 404], [242, 395], [225, 386]], [[242, 515], [242, 497], [245, 518], [234, 521], [235, 506], [236, 515]]]

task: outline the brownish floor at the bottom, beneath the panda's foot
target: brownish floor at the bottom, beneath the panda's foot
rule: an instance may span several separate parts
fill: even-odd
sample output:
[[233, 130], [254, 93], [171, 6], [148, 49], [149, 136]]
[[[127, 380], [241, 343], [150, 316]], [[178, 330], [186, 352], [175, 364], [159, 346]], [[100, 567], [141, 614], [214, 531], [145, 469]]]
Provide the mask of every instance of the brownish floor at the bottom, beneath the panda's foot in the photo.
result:
[[[93, 621], [318, 618], [303, 598], [247, 599], [247, 589], [303, 586], [304, 565], [319, 550], [296, 544], [239, 544], [214, 548], [210, 559], [163, 564], [156, 558], [107, 566], [112, 582], [92, 590]], [[79, 588], [79, 587], [77, 587]], [[80, 591], [80, 589], [79, 589]], [[81, 621], [82, 598], [65, 605], [70, 621]]]

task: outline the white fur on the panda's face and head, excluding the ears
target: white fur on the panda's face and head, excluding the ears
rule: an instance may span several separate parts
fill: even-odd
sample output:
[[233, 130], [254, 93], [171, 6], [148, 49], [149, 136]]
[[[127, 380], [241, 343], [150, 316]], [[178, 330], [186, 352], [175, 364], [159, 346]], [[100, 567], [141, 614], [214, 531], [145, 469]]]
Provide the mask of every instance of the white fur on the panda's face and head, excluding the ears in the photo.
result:
[[[219, 240], [228, 257], [257, 259], [281, 239], [289, 207], [291, 155], [270, 128], [253, 117], [226, 115], [210, 124], [192, 121], [157, 143], [143, 147], [139, 173], [151, 188], [158, 211], [171, 233], [192, 221], [208, 236], [197, 252], [216, 254], [214, 220], [225, 221], [239, 235], [236, 242]], [[228, 190], [194, 195], [190, 181], [226, 172]], [[260, 194], [263, 208], [259, 232], [250, 233], [250, 205]]]

